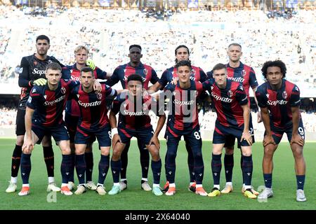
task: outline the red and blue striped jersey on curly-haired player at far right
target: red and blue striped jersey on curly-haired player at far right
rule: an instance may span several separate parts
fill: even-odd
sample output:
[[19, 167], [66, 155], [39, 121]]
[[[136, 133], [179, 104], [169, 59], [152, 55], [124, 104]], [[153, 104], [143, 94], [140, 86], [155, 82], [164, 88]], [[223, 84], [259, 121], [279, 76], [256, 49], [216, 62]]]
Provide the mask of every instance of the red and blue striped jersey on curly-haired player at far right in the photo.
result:
[[258, 106], [268, 107], [270, 122], [275, 127], [292, 127], [291, 107], [301, 105], [300, 90], [297, 85], [288, 80], [282, 80], [279, 90], [272, 90], [269, 82], [260, 85], [256, 90]]

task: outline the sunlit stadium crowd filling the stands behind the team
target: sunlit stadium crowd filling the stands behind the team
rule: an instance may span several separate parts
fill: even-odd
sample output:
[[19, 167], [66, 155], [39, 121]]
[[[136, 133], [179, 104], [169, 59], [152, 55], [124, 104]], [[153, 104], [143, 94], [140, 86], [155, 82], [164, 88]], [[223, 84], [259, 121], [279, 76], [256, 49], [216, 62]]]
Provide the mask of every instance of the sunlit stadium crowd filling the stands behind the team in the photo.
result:
[[[124, 61], [126, 45], [133, 42], [141, 43], [143, 61], [160, 76], [173, 64], [173, 47], [184, 43], [191, 48], [192, 62], [209, 71], [214, 64], [210, 62], [225, 62], [226, 45], [235, 41], [244, 46], [243, 61], [251, 64], [256, 73], [260, 74], [266, 58], [275, 55], [288, 64], [290, 81], [315, 89], [316, 35], [308, 28], [315, 22], [315, 10], [298, 10], [291, 20], [269, 19], [261, 10], [179, 10], [166, 21], [155, 21], [140, 10], [64, 8], [51, 10], [40, 20], [29, 15], [27, 7], [0, 6], [0, 12], [0, 18], [8, 21], [0, 25], [0, 82], [17, 81], [18, 76], [12, 73], [13, 64], [19, 64], [22, 55], [33, 52], [32, 41], [45, 27], [53, 40], [52, 55], [64, 64], [72, 64], [74, 46], [84, 44], [101, 68], [113, 71]], [[13, 22], [17, 19], [21, 21], [18, 24]], [[25, 20], [32, 25], [25, 28]], [[131, 24], [138, 24], [137, 29]], [[261, 75], [258, 80], [263, 82]]]

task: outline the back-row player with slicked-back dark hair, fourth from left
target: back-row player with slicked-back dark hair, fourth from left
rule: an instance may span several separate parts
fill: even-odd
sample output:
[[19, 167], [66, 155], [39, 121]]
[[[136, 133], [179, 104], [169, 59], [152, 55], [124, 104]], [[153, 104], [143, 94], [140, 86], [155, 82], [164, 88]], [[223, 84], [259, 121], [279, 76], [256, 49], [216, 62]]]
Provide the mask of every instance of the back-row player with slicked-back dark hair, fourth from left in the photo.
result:
[[[176, 64], [183, 60], [190, 61], [189, 59], [190, 50], [189, 48], [187, 48], [186, 45], [178, 45], [174, 53], [176, 56]], [[168, 83], [171, 83], [173, 78], [178, 78], [176, 65], [172, 66], [169, 69], [166, 69], [164, 73], [162, 73], [162, 77], [159, 79], [159, 81], [155, 83], [154, 85], [152, 85], [149, 88], [149, 90], [153, 90], [154, 92], [157, 92], [157, 90], [163, 89], [164, 87], [166, 87]], [[207, 80], [207, 76], [206, 76], [206, 73], [204, 73], [204, 71], [201, 68], [197, 66], [192, 66], [192, 73], [191, 73], [190, 79], [203, 83], [205, 80]], [[187, 149], [187, 165], [189, 167], [189, 174], [190, 174], [189, 190], [191, 190], [192, 192], [195, 192], [196, 183], [195, 183], [195, 172], [193, 170], [194, 158], [192, 154], [192, 149], [190, 147], [190, 144], [186, 135], [185, 135], [185, 148]], [[169, 188], [169, 182], [167, 181], [166, 184], [164, 185], [164, 191], [166, 192], [168, 188]]]

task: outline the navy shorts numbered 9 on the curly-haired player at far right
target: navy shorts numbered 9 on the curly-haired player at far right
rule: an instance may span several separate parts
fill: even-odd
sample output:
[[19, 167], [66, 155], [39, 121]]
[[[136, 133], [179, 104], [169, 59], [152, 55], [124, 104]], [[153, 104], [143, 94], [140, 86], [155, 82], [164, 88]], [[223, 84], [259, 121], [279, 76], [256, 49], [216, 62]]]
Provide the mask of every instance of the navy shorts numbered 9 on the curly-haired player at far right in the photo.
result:
[[[271, 121], [270, 122], [270, 129], [271, 129], [271, 132], [272, 132], [272, 137], [275, 140], [276, 144], [279, 144], [279, 142], [281, 141], [282, 136], [283, 136], [284, 133], [287, 133], [287, 139], [289, 140], [289, 142], [291, 141], [293, 126], [281, 129], [279, 127], [275, 127], [273, 125], [273, 122]], [[301, 135], [301, 137], [303, 139], [305, 139], [305, 130], [304, 130], [302, 118], [301, 118], [300, 123], [298, 125], [298, 134]]]

